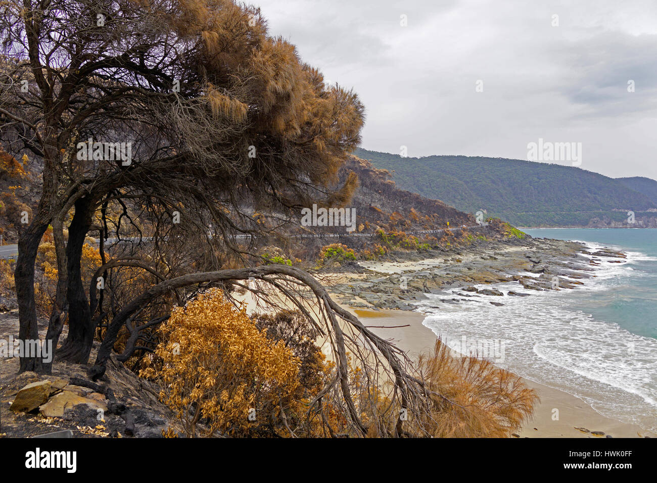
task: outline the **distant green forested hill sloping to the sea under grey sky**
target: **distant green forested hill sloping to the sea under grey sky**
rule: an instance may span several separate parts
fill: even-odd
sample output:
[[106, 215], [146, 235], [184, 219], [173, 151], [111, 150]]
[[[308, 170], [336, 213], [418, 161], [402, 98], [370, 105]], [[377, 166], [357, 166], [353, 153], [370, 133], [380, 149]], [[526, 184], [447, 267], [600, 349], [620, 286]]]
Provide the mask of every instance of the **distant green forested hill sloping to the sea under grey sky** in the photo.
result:
[[365, 149], [354, 154], [394, 170], [401, 189], [472, 214], [486, 210], [519, 226], [587, 226], [592, 220], [622, 221], [628, 210], [640, 218], [657, 208], [620, 180], [572, 166], [470, 156], [402, 158]]

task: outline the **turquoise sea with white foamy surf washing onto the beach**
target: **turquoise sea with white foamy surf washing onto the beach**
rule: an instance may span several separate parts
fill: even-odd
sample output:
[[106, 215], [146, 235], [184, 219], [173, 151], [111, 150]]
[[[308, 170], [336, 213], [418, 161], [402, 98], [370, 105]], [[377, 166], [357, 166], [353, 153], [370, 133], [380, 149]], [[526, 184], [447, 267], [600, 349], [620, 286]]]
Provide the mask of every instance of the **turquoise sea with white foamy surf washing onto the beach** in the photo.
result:
[[476, 349], [522, 377], [578, 396], [602, 415], [656, 431], [657, 230], [524, 231], [585, 242], [591, 250], [617, 248], [627, 261], [602, 258], [595, 277], [573, 290], [535, 292], [502, 283], [495, 287], [505, 294], [532, 295], [481, 296], [458, 305], [431, 295], [419, 307], [428, 314], [424, 325], [458, 352]]

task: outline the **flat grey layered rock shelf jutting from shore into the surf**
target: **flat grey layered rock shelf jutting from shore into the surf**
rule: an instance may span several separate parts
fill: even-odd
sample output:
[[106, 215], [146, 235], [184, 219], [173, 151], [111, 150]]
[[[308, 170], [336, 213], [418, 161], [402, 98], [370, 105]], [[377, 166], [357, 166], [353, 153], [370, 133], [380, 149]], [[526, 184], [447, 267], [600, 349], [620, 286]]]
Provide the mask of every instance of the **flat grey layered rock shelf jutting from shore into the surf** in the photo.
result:
[[[625, 255], [601, 249], [598, 256], [618, 258]], [[587, 255], [587, 256], [584, 256]], [[428, 260], [382, 265], [359, 262], [361, 274], [347, 284], [331, 287], [338, 300], [352, 307], [413, 310], [426, 294], [445, 295], [442, 304], [485, 302], [487, 297], [502, 298], [498, 288], [476, 287], [516, 281], [527, 290], [508, 290], [507, 296], [526, 297], [536, 291], [577, 288], [591, 277], [591, 252], [578, 242], [547, 239], [486, 241], [449, 254], [429, 254]], [[600, 260], [598, 258], [597, 260]], [[414, 269], [421, 266], [422, 269]], [[363, 269], [365, 268], [365, 269]], [[387, 271], [387, 273], [386, 273]], [[390, 272], [394, 273], [390, 273]], [[400, 273], [401, 272], [401, 273]], [[459, 298], [455, 298], [458, 296]], [[489, 300], [489, 302], [491, 302]], [[491, 302], [503, 305], [503, 302]]]

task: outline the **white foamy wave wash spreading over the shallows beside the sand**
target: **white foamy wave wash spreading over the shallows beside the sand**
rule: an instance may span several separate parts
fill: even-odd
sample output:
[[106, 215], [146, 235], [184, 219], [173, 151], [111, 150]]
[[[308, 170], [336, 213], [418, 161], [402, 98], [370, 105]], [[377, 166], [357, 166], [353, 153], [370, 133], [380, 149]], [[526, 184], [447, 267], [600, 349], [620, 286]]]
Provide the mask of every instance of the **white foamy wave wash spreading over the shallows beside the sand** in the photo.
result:
[[[618, 277], [620, 271], [617, 267], [609, 273]], [[591, 286], [585, 283], [584, 287]], [[495, 285], [503, 292], [517, 287], [516, 283]], [[442, 304], [440, 296], [429, 295], [419, 308], [429, 314], [424, 325], [448, 345], [462, 336], [502, 340], [505, 357], [496, 361], [502, 367], [562, 388], [603, 414], [654, 429], [657, 340], [568, 310], [562, 292], [532, 291], [530, 298], [480, 296], [459, 305]], [[505, 305], [493, 307], [491, 300]]]

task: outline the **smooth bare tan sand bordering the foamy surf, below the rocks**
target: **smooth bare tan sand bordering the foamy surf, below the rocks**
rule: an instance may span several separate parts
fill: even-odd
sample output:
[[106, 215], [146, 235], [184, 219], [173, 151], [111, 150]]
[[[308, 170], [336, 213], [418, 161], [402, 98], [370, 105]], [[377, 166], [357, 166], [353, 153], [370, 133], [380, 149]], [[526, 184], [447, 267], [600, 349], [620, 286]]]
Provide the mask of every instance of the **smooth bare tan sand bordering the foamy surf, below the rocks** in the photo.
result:
[[[407, 352], [411, 358], [430, 351], [436, 342], [436, 335], [422, 325], [424, 315], [417, 312], [401, 310], [359, 310], [345, 307], [357, 315], [365, 325], [371, 327], [379, 336], [392, 339], [395, 344]], [[376, 326], [407, 327], [379, 328]], [[527, 438], [639, 438], [643, 436], [657, 437], [656, 434], [643, 430], [639, 426], [630, 425], [600, 415], [593, 407], [583, 400], [562, 390], [523, 379], [535, 389], [541, 398], [537, 404], [533, 418], [527, 421], [520, 437]], [[558, 420], [553, 420], [553, 410], [558, 409]], [[585, 428], [589, 432], [579, 430]], [[591, 432], [602, 432], [604, 435], [594, 435]]]

